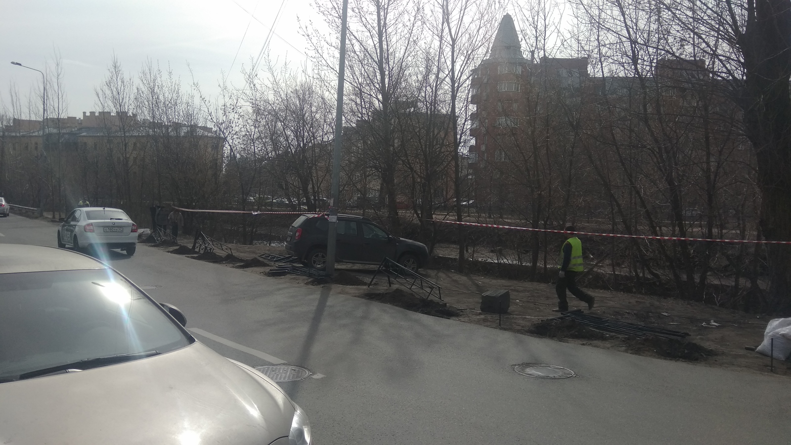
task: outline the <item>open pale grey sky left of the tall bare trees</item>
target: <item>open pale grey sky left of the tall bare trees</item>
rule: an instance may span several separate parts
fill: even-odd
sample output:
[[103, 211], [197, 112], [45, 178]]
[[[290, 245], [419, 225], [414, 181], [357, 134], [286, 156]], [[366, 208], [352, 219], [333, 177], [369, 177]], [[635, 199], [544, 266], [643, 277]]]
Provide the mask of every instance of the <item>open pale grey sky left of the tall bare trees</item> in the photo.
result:
[[[169, 63], [185, 85], [191, 83], [188, 63], [203, 91], [214, 93], [237, 50], [229, 80], [240, 83], [242, 63], [259, 54], [280, 5], [281, 0], [0, 0], [0, 100], [8, 106], [12, 83], [23, 96], [40, 84], [40, 74], [11, 61], [44, 70], [55, 49], [64, 62], [70, 116], [96, 109], [93, 89], [113, 52], [134, 74], [146, 59], [163, 69]], [[266, 26], [242, 8], [255, 11]], [[305, 60], [298, 52], [306, 51], [297, 15], [305, 23], [311, 9], [309, 0], [285, 0], [274, 29], [282, 38], [271, 40], [273, 58]]]

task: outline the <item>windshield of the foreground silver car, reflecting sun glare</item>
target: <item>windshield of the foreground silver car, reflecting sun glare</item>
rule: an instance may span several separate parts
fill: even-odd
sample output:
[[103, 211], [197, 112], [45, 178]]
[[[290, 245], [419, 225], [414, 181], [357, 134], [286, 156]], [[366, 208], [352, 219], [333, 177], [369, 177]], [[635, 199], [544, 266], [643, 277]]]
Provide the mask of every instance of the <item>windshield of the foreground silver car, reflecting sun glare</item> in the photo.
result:
[[0, 382], [81, 360], [142, 358], [191, 341], [112, 270], [0, 274]]

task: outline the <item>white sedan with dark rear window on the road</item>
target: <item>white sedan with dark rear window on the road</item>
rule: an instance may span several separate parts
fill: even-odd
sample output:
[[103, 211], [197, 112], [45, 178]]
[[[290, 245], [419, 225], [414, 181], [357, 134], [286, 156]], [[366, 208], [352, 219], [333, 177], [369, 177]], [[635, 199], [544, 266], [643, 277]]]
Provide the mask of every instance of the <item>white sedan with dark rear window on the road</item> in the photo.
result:
[[121, 249], [130, 257], [138, 246], [138, 225], [127, 212], [110, 207], [75, 208], [58, 227], [58, 247]]

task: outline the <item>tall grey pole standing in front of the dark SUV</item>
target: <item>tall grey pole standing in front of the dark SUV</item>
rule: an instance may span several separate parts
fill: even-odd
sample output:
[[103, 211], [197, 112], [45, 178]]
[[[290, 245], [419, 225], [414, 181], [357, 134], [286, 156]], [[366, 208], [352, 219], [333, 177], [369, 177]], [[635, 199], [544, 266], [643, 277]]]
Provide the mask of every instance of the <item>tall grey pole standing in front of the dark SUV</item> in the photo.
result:
[[328, 276], [335, 275], [335, 238], [337, 237], [338, 206], [341, 180], [341, 142], [343, 139], [343, 78], [346, 70], [346, 10], [348, 0], [343, 0], [341, 14], [341, 51], [338, 66], [338, 102], [335, 104], [335, 147], [332, 151], [332, 189], [330, 218], [327, 225], [327, 264]]

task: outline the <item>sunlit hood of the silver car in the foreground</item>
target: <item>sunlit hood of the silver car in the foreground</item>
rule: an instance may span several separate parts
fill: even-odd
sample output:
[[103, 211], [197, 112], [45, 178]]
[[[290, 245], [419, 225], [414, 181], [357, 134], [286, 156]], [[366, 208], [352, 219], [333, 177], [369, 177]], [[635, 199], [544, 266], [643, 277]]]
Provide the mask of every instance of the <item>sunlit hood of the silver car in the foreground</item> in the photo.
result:
[[0, 383], [0, 443], [267, 445], [289, 435], [282, 390], [195, 342], [161, 356]]

